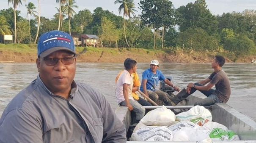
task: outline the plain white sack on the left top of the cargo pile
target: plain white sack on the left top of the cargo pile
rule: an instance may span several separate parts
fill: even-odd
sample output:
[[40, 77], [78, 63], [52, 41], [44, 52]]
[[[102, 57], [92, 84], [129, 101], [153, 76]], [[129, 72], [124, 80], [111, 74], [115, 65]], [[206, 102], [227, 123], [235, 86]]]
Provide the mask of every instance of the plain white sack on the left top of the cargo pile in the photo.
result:
[[164, 105], [161, 108], [157, 108], [149, 111], [141, 120], [148, 126], [170, 126], [177, 123], [175, 121], [176, 116], [170, 109], [167, 109]]

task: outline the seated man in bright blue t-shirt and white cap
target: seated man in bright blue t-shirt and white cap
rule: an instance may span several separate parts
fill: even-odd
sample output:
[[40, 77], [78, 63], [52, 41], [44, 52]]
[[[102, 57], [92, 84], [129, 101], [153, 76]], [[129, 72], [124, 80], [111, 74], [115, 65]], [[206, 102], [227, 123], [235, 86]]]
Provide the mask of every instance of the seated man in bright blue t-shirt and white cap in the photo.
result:
[[157, 84], [159, 80], [163, 80], [167, 85], [173, 87], [176, 91], [179, 92], [179, 87], [174, 85], [170, 80], [165, 78], [159, 68], [159, 62], [157, 60], [152, 60], [150, 63], [150, 68], [146, 69], [142, 73], [142, 84], [140, 85], [140, 90], [154, 102], [157, 102], [158, 99], [163, 101], [165, 105], [171, 104], [171, 96], [168, 93], [165, 93], [161, 90], [157, 90]]

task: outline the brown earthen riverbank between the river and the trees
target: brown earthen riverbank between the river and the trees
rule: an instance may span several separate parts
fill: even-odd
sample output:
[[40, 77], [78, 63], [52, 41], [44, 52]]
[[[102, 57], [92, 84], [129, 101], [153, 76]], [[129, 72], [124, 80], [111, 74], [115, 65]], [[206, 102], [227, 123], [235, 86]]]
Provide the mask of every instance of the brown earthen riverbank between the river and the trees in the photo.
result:
[[[219, 54], [226, 62], [233, 62], [227, 52], [195, 52], [184, 50], [148, 50], [142, 48], [93, 48], [76, 47], [77, 62], [122, 63], [126, 58], [137, 62], [149, 62], [157, 59], [160, 62], [196, 63], [211, 62]], [[0, 44], [0, 61], [2, 62], [36, 62], [36, 44]], [[250, 62], [251, 58], [238, 58], [236, 62]]]

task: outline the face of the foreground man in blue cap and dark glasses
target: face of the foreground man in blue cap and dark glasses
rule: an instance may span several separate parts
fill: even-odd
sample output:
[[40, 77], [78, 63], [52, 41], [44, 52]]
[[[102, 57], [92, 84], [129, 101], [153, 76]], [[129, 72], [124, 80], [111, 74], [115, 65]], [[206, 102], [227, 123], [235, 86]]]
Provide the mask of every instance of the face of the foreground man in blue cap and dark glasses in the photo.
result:
[[49, 66], [46, 58], [71, 58], [74, 54], [60, 50], [49, 56], [36, 60], [37, 69], [41, 80], [46, 87], [54, 94], [69, 93], [76, 72], [76, 57], [73, 64], [64, 65], [59, 59], [57, 64]]

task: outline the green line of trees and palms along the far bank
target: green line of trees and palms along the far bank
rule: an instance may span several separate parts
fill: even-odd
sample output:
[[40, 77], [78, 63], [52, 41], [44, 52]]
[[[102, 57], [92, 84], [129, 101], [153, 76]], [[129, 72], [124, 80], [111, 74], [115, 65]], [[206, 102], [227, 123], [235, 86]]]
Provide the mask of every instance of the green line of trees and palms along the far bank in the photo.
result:
[[[75, 0], [56, 0], [53, 17], [47, 19], [35, 11], [36, 5], [25, 4], [27, 17], [17, 7], [22, 0], [8, 0], [13, 8], [0, 10], [0, 34], [14, 34], [16, 43], [36, 43], [50, 30], [96, 34], [105, 47], [147, 49], [185, 49], [194, 51], [226, 50], [235, 56], [256, 53], [256, 11], [213, 15], [205, 0], [195, 0], [174, 8], [169, 0], [116, 0], [120, 16], [98, 7], [76, 13]], [[135, 12], [140, 9], [138, 16]], [[33, 16], [34, 19], [30, 19]]]

